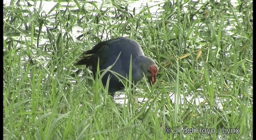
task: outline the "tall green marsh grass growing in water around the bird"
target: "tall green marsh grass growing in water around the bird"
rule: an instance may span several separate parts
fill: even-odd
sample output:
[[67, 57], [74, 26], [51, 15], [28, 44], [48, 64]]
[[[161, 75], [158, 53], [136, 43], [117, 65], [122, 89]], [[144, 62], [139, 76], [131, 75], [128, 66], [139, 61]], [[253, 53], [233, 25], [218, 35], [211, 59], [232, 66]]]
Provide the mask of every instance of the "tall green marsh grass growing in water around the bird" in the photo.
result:
[[[252, 139], [252, 0], [134, 10], [114, 0], [59, 0], [47, 12], [36, 3], [4, 6], [5, 140]], [[118, 36], [136, 40], [159, 67], [156, 84], [144, 79], [133, 95], [124, 81], [124, 104], [100, 76], [74, 66], [84, 50]], [[182, 133], [196, 127], [216, 132]], [[225, 134], [231, 128], [239, 134]]]

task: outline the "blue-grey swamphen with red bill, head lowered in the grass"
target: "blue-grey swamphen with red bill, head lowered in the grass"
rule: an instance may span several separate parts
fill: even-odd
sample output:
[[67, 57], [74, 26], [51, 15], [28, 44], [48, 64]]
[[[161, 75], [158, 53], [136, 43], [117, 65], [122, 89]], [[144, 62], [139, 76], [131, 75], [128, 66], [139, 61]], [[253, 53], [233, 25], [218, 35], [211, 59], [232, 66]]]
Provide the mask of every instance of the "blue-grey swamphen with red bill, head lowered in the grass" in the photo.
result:
[[118, 37], [99, 42], [83, 54], [86, 56], [80, 58], [75, 65], [91, 67], [94, 79], [98, 65], [100, 71], [112, 66], [110, 70], [121, 75], [118, 78], [116, 77], [117, 74], [108, 71], [102, 77], [102, 84], [105, 87], [108, 77], [110, 77], [108, 92], [113, 98], [117, 91], [124, 89], [124, 84], [119, 79], [123, 80], [129, 76], [130, 59], [132, 60], [132, 81], [134, 84], [137, 84], [144, 76], [148, 78], [150, 85], [156, 82], [158, 66], [152, 58], [144, 55], [138, 42], [128, 37]]

